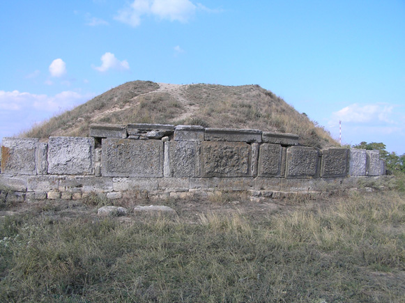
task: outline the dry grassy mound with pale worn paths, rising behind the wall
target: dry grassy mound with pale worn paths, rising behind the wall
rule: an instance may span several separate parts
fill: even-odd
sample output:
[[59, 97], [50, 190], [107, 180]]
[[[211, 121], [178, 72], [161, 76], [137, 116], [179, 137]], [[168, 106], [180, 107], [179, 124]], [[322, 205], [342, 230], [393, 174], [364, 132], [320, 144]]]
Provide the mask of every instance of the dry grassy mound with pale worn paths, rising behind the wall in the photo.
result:
[[168, 123], [291, 132], [304, 146], [338, 146], [330, 134], [258, 85], [131, 81], [54, 116], [22, 137], [87, 137], [91, 123]]

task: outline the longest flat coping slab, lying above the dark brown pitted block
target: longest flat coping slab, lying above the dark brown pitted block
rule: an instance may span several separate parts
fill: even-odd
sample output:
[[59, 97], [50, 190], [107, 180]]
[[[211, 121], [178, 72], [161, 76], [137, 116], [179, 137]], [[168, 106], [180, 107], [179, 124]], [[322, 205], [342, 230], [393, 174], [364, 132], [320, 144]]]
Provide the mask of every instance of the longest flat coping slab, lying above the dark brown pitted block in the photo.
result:
[[235, 128], [206, 128], [205, 140], [261, 143], [261, 130], [237, 130]]

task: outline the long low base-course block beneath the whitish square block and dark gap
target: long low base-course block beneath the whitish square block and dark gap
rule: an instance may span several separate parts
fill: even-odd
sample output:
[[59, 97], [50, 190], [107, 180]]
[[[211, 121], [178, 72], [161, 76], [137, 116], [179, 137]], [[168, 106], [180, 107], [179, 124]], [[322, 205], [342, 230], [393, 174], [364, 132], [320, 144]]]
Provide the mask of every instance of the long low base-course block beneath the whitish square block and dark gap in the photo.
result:
[[112, 192], [112, 178], [93, 176], [63, 176], [59, 180], [59, 187], [66, 192]]

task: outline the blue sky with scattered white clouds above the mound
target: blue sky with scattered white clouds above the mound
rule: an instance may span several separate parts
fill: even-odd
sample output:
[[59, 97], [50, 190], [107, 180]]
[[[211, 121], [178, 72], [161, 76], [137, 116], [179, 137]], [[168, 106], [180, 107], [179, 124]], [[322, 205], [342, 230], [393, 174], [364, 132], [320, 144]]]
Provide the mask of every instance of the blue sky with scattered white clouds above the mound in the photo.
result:
[[[1, 1], [0, 138], [137, 79], [259, 84], [405, 153], [405, 1]], [[136, 122], [136, 121], [134, 121]]]

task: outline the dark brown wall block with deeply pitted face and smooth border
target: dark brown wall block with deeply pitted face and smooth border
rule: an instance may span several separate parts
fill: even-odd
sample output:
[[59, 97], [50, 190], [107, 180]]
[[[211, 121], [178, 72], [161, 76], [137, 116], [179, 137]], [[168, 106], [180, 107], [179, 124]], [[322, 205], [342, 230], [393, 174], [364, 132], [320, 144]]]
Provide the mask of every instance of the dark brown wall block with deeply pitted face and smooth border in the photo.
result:
[[251, 146], [243, 142], [201, 142], [201, 175], [250, 176]]

